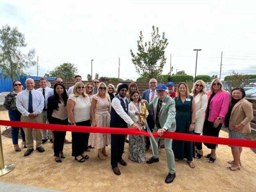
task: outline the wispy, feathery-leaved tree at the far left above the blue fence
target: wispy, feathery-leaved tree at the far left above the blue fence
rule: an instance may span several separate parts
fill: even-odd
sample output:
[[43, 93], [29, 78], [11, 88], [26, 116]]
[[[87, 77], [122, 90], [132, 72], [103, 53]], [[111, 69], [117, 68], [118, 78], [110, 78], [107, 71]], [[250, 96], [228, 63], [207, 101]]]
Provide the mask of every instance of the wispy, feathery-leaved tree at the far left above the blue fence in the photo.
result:
[[11, 77], [12, 82], [19, 74], [24, 74], [24, 70], [35, 66], [32, 61], [35, 56], [35, 49], [31, 49], [27, 54], [22, 54], [20, 48], [26, 47], [25, 35], [18, 31], [17, 27], [2, 26], [0, 29], [0, 49], [3, 54], [0, 57], [0, 69], [5, 78]]

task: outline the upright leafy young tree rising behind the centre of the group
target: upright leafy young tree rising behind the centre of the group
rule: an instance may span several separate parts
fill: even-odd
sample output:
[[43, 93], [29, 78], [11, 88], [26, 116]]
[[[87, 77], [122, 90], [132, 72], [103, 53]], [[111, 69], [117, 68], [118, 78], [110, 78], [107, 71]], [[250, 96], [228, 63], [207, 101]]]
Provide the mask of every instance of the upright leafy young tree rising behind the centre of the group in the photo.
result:
[[150, 78], [158, 78], [163, 72], [166, 58], [164, 56], [164, 49], [168, 45], [164, 32], [162, 38], [159, 34], [158, 27], [155, 29], [152, 26], [153, 32], [151, 33], [152, 40], [148, 43], [143, 43], [142, 31], [140, 31], [138, 44], [138, 52], [136, 55], [130, 50], [132, 56], [132, 63], [135, 66], [136, 72], [143, 77], [146, 81]]

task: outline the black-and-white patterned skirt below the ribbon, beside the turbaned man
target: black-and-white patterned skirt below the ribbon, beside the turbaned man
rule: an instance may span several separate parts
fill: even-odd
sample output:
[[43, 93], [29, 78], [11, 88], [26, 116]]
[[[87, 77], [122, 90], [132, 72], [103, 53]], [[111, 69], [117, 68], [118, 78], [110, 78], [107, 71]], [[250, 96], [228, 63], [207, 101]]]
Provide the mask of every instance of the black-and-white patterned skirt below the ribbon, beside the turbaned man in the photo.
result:
[[146, 160], [145, 142], [143, 135], [129, 135], [128, 158], [141, 163]]

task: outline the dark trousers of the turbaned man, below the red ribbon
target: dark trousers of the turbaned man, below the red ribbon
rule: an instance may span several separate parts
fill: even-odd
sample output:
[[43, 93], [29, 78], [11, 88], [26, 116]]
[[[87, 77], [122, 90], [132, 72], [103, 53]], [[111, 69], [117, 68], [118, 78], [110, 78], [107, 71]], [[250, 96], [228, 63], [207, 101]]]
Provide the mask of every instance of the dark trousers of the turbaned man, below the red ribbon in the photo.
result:
[[124, 140], [123, 134], [111, 134], [111, 166], [117, 167], [118, 161], [122, 159], [124, 152]]

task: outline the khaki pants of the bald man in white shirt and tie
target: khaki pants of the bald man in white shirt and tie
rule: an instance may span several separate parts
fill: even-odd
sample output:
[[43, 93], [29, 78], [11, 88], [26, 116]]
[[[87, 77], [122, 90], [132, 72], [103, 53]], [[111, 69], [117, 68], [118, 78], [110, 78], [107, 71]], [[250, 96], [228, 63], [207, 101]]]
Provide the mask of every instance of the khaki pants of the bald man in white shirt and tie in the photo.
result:
[[[42, 114], [38, 114], [35, 118], [30, 118], [28, 116], [21, 116], [20, 121], [22, 122], [33, 122], [33, 123], [42, 123], [43, 116]], [[25, 138], [26, 138], [26, 144], [28, 145], [28, 149], [34, 148], [34, 141], [32, 136], [32, 128], [23, 128], [25, 132]], [[35, 129], [36, 130], [36, 147], [42, 146], [42, 130], [41, 129]]]

